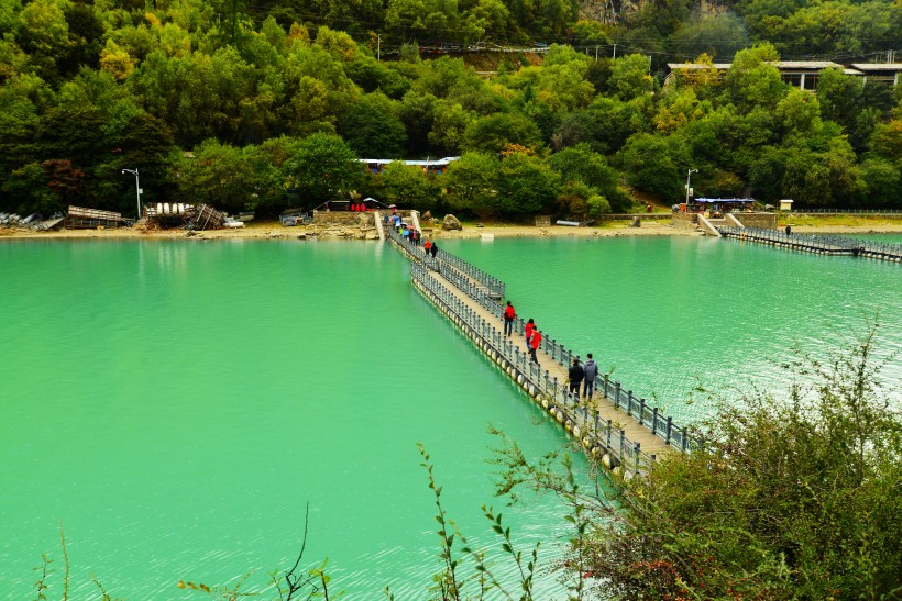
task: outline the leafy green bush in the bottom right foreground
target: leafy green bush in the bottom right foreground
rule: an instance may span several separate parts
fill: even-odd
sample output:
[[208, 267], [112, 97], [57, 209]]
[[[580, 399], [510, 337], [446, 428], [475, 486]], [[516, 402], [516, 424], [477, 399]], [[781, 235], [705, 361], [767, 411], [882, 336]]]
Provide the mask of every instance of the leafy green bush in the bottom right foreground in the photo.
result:
[[876, 355], [870, 332], [800, 360], [788, 398], [724, 403], [706, 450], [625, 487], [586, 571], [627, 598], [898, 596], [902, 423]]

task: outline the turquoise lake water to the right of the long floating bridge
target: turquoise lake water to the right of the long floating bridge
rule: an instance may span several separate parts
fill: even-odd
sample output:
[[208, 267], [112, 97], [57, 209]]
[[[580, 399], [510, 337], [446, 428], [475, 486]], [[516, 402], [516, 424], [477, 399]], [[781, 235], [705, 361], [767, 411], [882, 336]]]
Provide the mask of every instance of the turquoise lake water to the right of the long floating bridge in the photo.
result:
[[[876, 315], [879, 356], [902, 353], [898, 263], [712, 237], [449, 240], [442, 248], [499, 275], [520, 316], [683, 420], [711, 407], [697, 388], [785, 390], [791, 374], [779, 364], [793, 346], [820, 353]], [[883, 375], [902, 383], [902, 360]]]

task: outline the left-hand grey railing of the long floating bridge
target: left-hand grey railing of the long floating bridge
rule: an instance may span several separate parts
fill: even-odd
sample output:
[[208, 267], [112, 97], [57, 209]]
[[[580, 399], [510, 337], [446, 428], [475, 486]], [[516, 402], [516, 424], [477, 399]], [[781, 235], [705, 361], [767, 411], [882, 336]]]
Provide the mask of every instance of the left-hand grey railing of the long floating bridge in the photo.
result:
[[654, 455], [645, 453], [639, 443], [630, 441], [624, 430], [612, 420], [603, 420], [597, 410], [588, 408], [579, 398], [570, 394], [564, 387], [560, 386], [557, 378], [549, 375], [547, 369], [542, 370], [538, 365], [531, 363], [528, 355], [520, 352], [519, 347], [505, 336], [503, 331], [497, 330], [473, 311], [457, 293], [429, 277], [422, 263], [413, 264], [411, 278], [433, 302], [461, 321], [464, 332], [472, 333], [476, 338], [487, 343], [510, 364], [518, 375], [524, 377], [527, 385], [542, 391], [548, 398], [549, 409], [560, 410], [561, 421], [570, 422], [571, 431], [579, 438], [588, 437], [592, 446], [603, 447], [619, 464], [637, 471], [648, 469], [657, 459]]

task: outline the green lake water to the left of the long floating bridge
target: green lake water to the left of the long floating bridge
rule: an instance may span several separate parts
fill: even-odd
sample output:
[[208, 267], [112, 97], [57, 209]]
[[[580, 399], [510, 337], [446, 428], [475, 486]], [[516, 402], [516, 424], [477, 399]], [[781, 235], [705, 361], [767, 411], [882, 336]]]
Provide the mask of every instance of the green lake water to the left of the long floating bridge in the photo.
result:
[[[62, 569], [61, 522], [76, 599], [99, 598], [91, 574], [128, 599], [265, 583], [308, 502], [305, 558], [328, 556], [336, 590], [424, 598], [438, 537], [416, 443], [490, 545], [488, 424], [534, 456], [564, 442], [387, 245], [22, 242], [0, 244], [0, 598], [31, 598], [42, 553]], [[505, 515], [550, 559], [561, 513]]]

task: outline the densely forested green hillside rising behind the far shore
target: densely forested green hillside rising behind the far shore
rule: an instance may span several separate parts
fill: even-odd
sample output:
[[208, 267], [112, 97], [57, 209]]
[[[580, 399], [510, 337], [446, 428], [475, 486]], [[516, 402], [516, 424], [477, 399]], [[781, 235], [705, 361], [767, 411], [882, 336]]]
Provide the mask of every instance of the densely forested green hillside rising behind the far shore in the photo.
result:
[[[886, 60], [898, 0], [0, 0], [0, 32], [2, 211], [132, 214], [122, 169], [145, 202], [227, 211], [354, 190], [584, 219], [678, 202], [690, 168], [706, 196], [902, 208], [900, 87], [836, 69], [813, 94], [771, 64]], [[493, 76], [461, 58], [506, 45], [548, 46]], [[686, 60], [734, 64], [666, 85]], [[352, 160], [452, 155], [441, 176]]]

